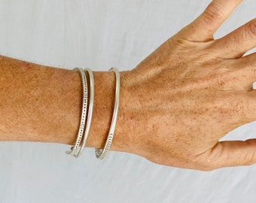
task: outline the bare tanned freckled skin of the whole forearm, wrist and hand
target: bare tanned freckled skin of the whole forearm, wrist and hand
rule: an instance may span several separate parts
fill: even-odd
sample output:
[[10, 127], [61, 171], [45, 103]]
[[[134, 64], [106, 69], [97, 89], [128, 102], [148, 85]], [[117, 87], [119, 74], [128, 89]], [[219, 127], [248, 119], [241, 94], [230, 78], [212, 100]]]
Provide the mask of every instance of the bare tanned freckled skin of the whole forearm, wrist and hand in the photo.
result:
[[[132, 71], [121, 92], [111, 150], [151, 162], [209, 171], [256, 162], [256, 140], [222, 141], [254, 121], [256, 20], [214, 39], [241, 0], [214, 0], [193, 23]], [[0, 138], [74, 144], [81, 112], [78, 72], [0, 57]], [[94, 72], [87, 147], [103, 147], [114, 106], [114, 74]], [[18, 88], [17, 88], [18, 86]]]

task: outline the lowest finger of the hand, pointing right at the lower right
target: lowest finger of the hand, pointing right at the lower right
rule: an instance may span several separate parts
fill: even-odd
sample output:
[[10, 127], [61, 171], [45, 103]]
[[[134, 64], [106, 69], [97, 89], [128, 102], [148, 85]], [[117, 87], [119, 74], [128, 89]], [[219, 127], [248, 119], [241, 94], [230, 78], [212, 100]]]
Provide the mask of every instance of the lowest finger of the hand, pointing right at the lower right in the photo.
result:
[[212, 168], [252, 165], [256, 162], [256, 139], [247, 141], [221, 141], [211, 153]]

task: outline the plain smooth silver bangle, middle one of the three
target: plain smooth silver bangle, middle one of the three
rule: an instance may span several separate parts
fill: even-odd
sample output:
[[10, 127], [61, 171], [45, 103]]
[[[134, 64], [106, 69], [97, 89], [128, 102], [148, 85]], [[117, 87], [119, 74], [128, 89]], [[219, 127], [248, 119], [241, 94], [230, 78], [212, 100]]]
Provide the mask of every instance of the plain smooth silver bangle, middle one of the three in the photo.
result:
[[93, 102], [94, 102], [94, 80], [93, 80], [93, 71], [90, 70], [90, 68], [85, 68], [84, 71], [87, 71], [89, 74], [90, 78], [90, 102], [89, 102], [89, 109], [88, 109], [88, 114], [87, 114], [87, 126], [85, 128], [84, 132], [84, 140], [83, 144], [81, 145], [80, 150], [78, 151], [78, 154], [75, 155], [75, 157], [78, 157], [83, 153], [84, 147], [87, 143], [87, 138], [90, 132], [90, 124], [92, 122], [92, 117], [93, 117]]

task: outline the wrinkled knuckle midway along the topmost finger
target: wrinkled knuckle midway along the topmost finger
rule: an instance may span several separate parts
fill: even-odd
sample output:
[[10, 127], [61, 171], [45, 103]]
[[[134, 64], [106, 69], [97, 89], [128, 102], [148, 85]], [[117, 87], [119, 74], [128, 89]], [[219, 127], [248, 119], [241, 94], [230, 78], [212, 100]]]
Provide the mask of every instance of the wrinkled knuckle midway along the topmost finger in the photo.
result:
[[[204, 17], [209, 22], [219, 22], [223, 19], [224, 14], [221, 13], [221, 5], [216, 2], [212, 2], [204, 11]], [[207, 22], [208, 23], [208, 22]]]

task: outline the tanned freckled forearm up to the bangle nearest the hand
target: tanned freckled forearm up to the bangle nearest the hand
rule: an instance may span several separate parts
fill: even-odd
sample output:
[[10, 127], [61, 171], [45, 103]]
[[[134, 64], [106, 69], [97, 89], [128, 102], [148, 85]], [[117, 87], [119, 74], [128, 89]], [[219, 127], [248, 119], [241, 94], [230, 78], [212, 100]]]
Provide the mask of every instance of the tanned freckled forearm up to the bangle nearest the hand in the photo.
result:
[[[114, 74], [94, 72], [94, 79], [87, 147], [103, 147], [114, 106]], [[0, 141], [74, 144], [81, 117], [81, 89], [78, 71], [0, 56]]]

